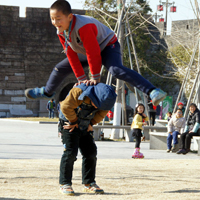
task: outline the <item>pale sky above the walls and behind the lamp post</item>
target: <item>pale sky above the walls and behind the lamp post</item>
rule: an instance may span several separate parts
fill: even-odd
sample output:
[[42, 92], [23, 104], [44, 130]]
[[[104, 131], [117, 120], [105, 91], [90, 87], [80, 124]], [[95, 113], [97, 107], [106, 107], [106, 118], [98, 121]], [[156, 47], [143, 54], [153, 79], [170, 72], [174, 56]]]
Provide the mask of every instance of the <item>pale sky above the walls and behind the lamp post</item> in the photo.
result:
[[[40, 8], [49, 8], [55, 0], [0, 0], [0, 5], [8, 5], [8, 6], [19, 6], [20, 7], [20, 16], [25, 17], [25, 7], [40, 7]], [[71, 4], [72, 9], [83, 9], [84, 0], [68, 0]], [[149, 2], [150, 7], [152, 8], [153, 13], [157, 10], [157, 5], [159, 5], [159, 0], [147, 0]], [[194, 2], [194, 0], [191, 0]], [[130, 2], [127, 0], [126, 2]], [[161, 0], [161, 2], [166, 2], [166, 0]], [[190, 3], [190, 0], [168, 0], [169, 3], [175, 2], [174, 6], [177, 7], [176, 13], [168, 12], [168, 20], [167, 20], [167, 30], [168, 34], [170, 34], [171, 30], [171, 21], [176, 20], [187, 20], [194, 19], [195, 15]], [[200, 0], [198, 0], [200, 3]], [[194, 5], [194, 3], [193, 3]], [[168, 8], [169, 11], [170, 8]], [[158, 15], [163, 14], [163, 18], [165, 18], [165, 7], [164, 11], [158, 12]]]

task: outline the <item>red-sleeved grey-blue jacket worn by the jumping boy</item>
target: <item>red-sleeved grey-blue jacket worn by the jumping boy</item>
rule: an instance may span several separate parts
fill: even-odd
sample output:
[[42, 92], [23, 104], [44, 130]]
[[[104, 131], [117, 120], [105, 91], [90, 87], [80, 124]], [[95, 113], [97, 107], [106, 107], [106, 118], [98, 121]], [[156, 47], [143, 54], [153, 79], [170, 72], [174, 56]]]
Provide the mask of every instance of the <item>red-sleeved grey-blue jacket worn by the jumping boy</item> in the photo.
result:
[[[67, 42], [64, 33], [58, 33], [63, 48], [66, 50], [69, 63], [78, 79], [86, 79], [85, 72], [77, 53], [87, 56], [92, 79], [100, 78], [102, 65], [101, 51], [117, 41], [115, 33], [98, 20], [82, 15], [73, 15], [71, 31]], [[67, 46], [67, 47], [66, 47]]]

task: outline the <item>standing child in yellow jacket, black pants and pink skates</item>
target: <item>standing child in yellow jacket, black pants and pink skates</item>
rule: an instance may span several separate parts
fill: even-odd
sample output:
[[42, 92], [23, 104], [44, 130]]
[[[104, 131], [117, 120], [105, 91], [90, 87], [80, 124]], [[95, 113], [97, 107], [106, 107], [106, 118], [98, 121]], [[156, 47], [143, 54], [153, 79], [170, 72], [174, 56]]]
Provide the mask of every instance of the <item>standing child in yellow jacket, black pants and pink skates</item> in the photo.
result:
[[148, 121], [148, 117], [145, 115], [144, 111], [145, 107], [143, 104], [139, 103], [136, 105], [135, 115], [131, 124], [133, 136], [136, 139], [135, 150], [133, 152], [132, 158], [144, 158], [144, 155], [140, 152], [140, 143], [143, 129], [142, 126], [147, 125], [145, 121]]

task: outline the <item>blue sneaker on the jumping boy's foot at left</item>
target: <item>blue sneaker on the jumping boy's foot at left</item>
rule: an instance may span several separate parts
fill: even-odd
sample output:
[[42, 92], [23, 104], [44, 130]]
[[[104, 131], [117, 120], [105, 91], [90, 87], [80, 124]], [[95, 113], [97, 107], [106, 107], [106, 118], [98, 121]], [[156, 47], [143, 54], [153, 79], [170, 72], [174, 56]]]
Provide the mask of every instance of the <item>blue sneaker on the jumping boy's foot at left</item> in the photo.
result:
[[29, 88], [25, 90], [25, 96], [29, 99], [51, 99], [54, 95], [52, 94], [50, 97], [44, 94], [45, 87], [41, 88]]

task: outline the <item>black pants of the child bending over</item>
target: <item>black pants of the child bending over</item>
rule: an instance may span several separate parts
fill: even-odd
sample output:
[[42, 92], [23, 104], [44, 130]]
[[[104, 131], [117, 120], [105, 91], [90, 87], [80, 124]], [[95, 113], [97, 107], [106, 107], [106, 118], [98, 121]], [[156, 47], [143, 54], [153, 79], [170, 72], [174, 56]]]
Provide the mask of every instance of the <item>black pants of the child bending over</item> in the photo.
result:
[[69, 132], [67, 129], [61, 131], [64, 152], [60, 162], [61, 185], [72, 184], [72, 172], [74, 161], [77, 160], [78, 149], [82, 154], [82, 183], [95, 182], [97, 147], [94, 143], [93, 132], [83, 132], [79, 129]]

